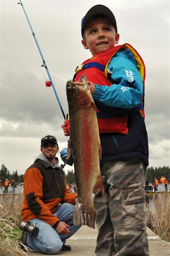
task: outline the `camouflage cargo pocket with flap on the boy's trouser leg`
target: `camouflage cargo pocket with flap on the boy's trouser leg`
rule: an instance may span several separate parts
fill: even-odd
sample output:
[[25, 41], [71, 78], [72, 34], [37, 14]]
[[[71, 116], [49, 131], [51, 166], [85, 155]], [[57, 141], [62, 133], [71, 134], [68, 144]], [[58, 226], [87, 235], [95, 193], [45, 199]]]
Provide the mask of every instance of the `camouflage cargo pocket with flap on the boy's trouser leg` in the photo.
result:
[[122, 188], [122, 215], [125, 230], [146, 230], [143, 185]]

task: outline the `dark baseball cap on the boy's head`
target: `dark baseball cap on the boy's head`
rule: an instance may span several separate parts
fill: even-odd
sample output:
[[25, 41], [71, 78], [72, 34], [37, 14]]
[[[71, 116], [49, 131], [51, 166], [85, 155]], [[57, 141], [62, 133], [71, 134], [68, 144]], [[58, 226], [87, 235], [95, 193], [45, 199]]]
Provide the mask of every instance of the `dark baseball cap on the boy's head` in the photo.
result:
[[97, 4], [97, 5], [94, 5], [93, 7], [91, 7], [91, 9], [86, 13], [86, 15], [81, 20], [81, 35], [82, 36], [83, 36], [83, 30], [86, 26], [86, 23], [89, 21], [89, 19], [92, 16], [94, 16], [96, 14], [103, 14], [103, 15], [107, 16], [110, 19], [110, 21], [112, 21], [113, 26], [115, 27], [116, 33], [118, 32], [114, 14], [105, 5]]

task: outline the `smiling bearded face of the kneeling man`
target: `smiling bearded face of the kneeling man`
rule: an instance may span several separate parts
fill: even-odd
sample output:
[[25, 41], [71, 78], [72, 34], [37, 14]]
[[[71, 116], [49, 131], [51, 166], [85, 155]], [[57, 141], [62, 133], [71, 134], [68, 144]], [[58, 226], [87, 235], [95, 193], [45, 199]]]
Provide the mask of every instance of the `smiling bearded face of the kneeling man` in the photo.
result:
[[45, 142], [41, 148], [41, 153], [49, 160], [56, 157], [58, 145], [53, 142]]

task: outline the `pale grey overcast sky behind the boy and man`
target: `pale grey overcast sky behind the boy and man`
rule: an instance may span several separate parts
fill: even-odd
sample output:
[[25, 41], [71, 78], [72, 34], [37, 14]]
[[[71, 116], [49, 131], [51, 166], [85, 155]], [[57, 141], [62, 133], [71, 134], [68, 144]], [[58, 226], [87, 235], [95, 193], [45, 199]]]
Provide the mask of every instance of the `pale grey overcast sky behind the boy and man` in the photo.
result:
[[[0, 1], [0, 166], [24, 174], [40, 153], [43, 136], [67, 147], [63, 116], [19, 1]], [[149, 166], [169, 165], [169, 1], [22, 1], [63, 110], [66, 82], [91, 57], [81, 45], [81, 18], [95, 4], [115, 15], [119, 44], [131, 44], [146, 65], [145, 113]], [[60, 154], [58, 154], [60, 156]], [[62, 163], [60, 161], [60, 163]], [[67, 170], [72, 167], [67, 166]]]

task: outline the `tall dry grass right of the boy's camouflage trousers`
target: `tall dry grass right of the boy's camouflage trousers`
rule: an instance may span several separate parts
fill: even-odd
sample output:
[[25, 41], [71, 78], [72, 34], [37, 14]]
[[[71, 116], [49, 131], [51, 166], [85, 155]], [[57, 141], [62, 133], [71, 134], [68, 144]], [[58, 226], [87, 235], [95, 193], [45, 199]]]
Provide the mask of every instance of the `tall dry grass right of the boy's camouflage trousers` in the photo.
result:
[[170, 242], [170, 196], [153, 196], [147, 205], [147, 226], [164, 241]]

